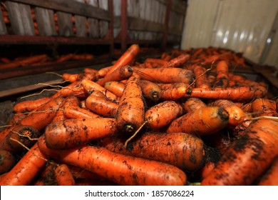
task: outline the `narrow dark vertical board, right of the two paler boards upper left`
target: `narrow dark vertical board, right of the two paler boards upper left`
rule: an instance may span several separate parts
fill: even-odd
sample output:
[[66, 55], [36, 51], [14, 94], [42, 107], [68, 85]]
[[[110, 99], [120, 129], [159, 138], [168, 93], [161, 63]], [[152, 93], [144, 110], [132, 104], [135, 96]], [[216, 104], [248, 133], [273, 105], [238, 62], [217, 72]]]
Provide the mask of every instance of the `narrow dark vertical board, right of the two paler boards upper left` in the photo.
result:
[[72, 15], [58, 11], [57, 16], [59, 35], [73, 36], [73, 21], [71, 20]]

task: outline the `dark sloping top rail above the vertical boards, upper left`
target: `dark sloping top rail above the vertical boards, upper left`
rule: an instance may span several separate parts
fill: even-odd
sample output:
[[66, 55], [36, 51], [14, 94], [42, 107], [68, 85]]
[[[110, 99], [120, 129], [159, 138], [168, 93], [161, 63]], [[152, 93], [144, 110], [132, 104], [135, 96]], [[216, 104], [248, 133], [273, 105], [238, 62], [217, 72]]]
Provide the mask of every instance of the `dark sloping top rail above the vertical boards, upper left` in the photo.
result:
[[70, 14], [78, 14], [81, 16], [88, 16], [96, 19], [103, 19], [109, 21], [109, 13], [104, 9], [97, 8], [95, 6], [90, 6], [88, 4], [83, 4], [81, 2], [73, 0], [10, 0], [21, 2], [24, 4], [31, 4], [34, 6], [40, 6], [46, 9], [53, 9], [57, 11], [63, 11]]

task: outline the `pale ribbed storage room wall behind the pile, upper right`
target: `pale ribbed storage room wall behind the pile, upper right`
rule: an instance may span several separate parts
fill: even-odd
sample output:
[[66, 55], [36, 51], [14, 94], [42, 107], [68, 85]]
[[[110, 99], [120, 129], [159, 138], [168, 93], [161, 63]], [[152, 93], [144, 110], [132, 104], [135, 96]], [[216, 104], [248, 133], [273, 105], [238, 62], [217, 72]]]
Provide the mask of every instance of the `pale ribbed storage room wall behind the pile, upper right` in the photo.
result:
[[189, 0], [182, 49], [223, 47], [278, 69], [278, 0]]

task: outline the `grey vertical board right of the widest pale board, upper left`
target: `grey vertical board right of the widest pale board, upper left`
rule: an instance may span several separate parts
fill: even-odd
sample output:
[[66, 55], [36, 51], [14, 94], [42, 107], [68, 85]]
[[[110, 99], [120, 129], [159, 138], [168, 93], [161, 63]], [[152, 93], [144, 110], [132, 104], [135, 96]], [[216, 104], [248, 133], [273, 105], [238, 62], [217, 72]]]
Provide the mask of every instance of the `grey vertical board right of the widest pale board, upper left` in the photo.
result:
[[39, 34], [41, 36], [56, 36], [53, 10], [35, 7], [35, 14]]

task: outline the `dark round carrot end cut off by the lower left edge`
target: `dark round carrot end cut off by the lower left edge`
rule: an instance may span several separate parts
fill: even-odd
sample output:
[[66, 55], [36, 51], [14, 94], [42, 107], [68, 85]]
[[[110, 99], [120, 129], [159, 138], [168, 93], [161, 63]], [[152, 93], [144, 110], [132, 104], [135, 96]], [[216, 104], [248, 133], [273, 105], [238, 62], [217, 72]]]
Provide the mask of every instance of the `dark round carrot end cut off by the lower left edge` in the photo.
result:
[[10, 171], [16, 164], [16, 158], [10, 151], [0, 149], [0, 174]]

